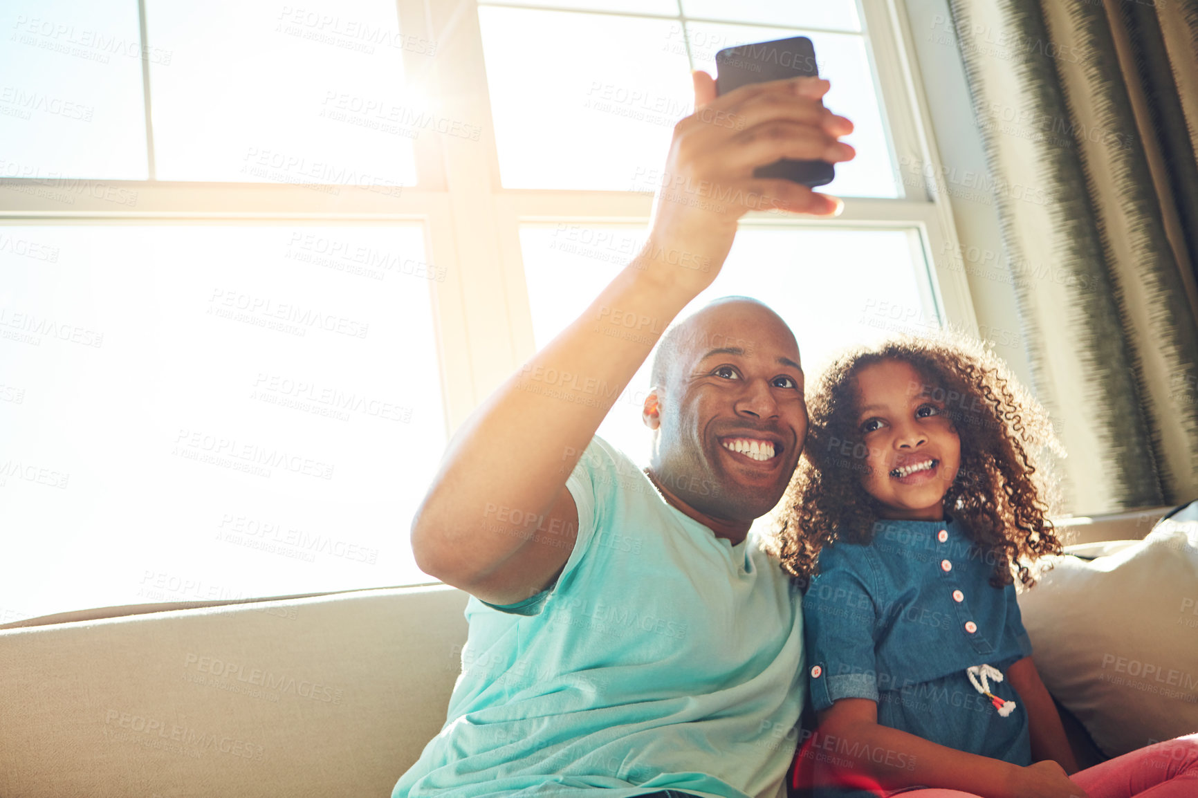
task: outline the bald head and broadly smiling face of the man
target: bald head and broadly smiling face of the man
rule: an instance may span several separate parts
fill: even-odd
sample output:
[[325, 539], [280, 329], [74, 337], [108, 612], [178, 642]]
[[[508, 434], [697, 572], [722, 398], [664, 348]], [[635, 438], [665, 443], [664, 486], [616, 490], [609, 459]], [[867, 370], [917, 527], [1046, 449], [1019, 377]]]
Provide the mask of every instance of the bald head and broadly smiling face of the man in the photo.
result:
[[749, 300], [718, 301], [677, 335], [664, 385], [647, 401], [646, 423], [657, 430], [651, 472], [710, 521], [748, 530], [782, 497], [803, 452], [798, 344], [773, 310]]

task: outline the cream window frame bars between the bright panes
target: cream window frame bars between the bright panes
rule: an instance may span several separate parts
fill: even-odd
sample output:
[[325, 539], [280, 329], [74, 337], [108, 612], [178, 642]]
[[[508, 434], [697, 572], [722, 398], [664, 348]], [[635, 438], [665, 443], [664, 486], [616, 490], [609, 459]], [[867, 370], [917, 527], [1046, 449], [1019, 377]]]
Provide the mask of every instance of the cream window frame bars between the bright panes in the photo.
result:
[[[939, 163], [904, 0], [857, 2], [896, 167]], [[145, 0], [138, 0], [138, 10], [145, 53], [151, 44]], [[340, 186], [332, 197], [303, 186], [276, 183], [0, 179], [0, 225], [420, 222], [428, 259], [446, 270], [444, 282], [430, 282], [429, 290], [442, 367], [446, 434], [452, 435], [534, 351], [520, 225], [647, 224], [653, 197], [503, 188], [476, 0], [397, 0], [397, 13], [405, 36], [418, 36], [437, 47], [434, 58], [405, 50], [405, 74], [429, 80], [425, 93], [441, 98], [438, 115], [470, 120], [483, 128], [477, 141], [432, 135], [415, 139], [417, 185], [403, 187], [398, 197], [353, 186]], [[438, 40], [438, 31], [452, 31], [452, 36]], [[143, 59], [144, 123], [152, 176], [149, 80], [149, 64]], [[65, 205], [44, 193], [40, 195], [38, 189], [48, 185], [67, 187], [73, 201]], [[105, 199], [114, 192], [133, 197], [134, 202], [119, 205]], [[976, 334], [966, 274], [951, 267], [952, 259], [946, 254], [960, 248], [946, 193], [934, 182], [912, 187], [902, 181], [900, 193], [903, 195], [897, 199], [852, 198], [836, 219], [750, 212], [742, 224], [910, 230], [912, 246], [928, 267], [928, 302], [944, 324]]]

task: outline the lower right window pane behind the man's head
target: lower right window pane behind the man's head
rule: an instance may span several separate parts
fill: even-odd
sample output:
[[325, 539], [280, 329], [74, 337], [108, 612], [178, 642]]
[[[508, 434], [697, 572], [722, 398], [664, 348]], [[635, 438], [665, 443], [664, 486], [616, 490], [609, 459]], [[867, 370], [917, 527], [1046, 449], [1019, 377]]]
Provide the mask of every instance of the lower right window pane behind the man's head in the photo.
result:
[[[623, 266], [621, 254], [629, 248], [635, 253], [643, 237], [643, 226], [524, 226], [521, 244], [538, 347], [591, 304]], [[830, 262], [839, 268], [824, 266]], [[934, 313], [910, 313], [931, 307], [930, 297], [920, 294], [927, 284], [912, 231], [763, 225], [737, 234], [719, 277], [692, 306], [728, 295], [762, 297], [791, 325], [803, 367], [815, 374], [822, 361], [848, 341], [938, 328]], [[642, 465], [648, 464], [652, 440], [641, 423], [651, 363], [641, 367], [599, 428], [599, 435]]]

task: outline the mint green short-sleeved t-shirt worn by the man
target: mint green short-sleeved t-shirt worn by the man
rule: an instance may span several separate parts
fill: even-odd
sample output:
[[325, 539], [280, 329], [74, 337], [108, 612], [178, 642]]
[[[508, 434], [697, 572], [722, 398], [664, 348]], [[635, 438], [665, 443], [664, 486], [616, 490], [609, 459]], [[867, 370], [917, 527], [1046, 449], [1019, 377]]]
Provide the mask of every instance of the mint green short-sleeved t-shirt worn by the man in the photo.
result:
[[567, 488], [565, 568], [516, 605], [470, 599], [448, 719], [392, 797], [785, 796], [806, 694], [798, 588], [755, 536], [716, 538], [599, 437]]

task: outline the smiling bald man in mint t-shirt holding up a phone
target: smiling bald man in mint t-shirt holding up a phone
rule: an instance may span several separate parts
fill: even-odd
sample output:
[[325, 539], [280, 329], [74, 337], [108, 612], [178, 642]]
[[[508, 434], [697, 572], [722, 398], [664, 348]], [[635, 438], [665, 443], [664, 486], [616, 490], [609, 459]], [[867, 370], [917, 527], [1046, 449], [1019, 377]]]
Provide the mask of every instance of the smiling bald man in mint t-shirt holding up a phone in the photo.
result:
[[448, 720], [395, 797], [782, 794], [799, 599], [746, 536], [806, 435], [794, 337], [744, 298], [672, 327], [643, 473], [594, 437], [609, 409], [595, 397], [622, 391], [653, 343], [618, 325], [672, 321], [748, 210], [839, 212], [752, 170], [847, 161], [852, 125], [823, 108], [824, 80], [715, 97], [694, 77], [645, 249], [467, 419], [412, 524], [420, 568], [473, 598]]

